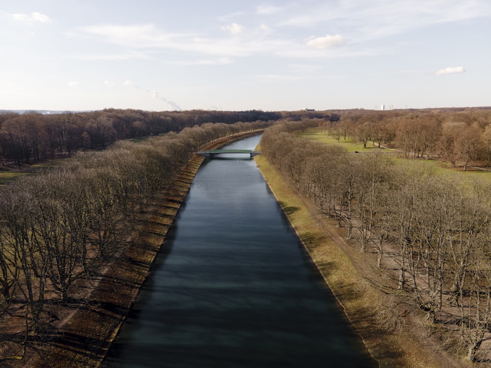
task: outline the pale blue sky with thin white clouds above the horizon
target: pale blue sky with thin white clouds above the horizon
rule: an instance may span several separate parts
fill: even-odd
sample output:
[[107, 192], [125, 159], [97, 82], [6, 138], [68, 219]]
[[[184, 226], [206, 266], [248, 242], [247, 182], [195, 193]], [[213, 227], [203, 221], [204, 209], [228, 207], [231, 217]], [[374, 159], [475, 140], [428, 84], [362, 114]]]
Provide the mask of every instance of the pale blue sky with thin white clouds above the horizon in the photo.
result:
[[490, 0], [0, 0], [0, 109], [491, 105]]

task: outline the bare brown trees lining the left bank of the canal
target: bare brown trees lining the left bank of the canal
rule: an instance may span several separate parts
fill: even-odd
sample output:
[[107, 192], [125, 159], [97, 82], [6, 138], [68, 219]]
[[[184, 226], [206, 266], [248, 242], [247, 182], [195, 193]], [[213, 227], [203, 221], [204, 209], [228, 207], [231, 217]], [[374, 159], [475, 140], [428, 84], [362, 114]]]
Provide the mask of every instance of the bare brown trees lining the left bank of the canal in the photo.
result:
[[49, 306], [84, 303], [76, 299], [77, 280], [118, 262], [138, 211], [200, 146], [268, 125], [207, 123], [119, 141], [0, 187], [0, 344], [21, 343], [25, 354], [56, 317]]

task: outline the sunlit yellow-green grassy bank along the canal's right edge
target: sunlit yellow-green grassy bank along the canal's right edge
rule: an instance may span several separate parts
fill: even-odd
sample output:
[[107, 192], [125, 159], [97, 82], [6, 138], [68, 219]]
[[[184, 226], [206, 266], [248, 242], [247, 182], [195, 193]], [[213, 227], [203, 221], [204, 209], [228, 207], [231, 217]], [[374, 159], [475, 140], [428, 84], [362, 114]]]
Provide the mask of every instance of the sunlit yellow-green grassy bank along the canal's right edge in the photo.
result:
[[428, 336], [417, 323], [397, 332], [377, 328], [374, 311], [385, 306], [380, 304], [382, 291], [364, 272], [368, 256], [347, 244], [342, 230], [289, 186], [266, 158], [258, 156], [255, 162], [327, 287], [380, 367], [468, 367], [425, 343]]

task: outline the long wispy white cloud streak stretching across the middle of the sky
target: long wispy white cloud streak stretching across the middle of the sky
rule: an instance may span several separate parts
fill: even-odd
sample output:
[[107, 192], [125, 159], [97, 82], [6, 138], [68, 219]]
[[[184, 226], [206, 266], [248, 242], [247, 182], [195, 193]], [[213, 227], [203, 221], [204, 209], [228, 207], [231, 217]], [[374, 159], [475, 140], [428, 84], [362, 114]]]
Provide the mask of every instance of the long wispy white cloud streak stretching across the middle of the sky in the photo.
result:
[[[87, 39], [94, 37], [94, 41], [102, 41], [110, 44], [124, 46], [122, 54], [105, 54], [94, 53], [90, 55], [77, 55], [77, 58], [89, 60], [129, 60], [129, 59], [154, 59], [156, 50], [152, 49], [170, 49], [178, 52], [189, 53], [182, 56], [181, 62], [175, 61], [177, 65], [195, 65], [201, 64], [223, 64], [218, 61], [219, 58], [230, 57], [247, 57], [257, 54], [274, 54], [283, 57], [326, 57], [326, 56], [353, 56], [366, 54], [366, 50], [361, 52], [355, 49], [343, 48], [343, 53], [336, 55], [319, 53], [319, 49], [339, 46], [344, 44], [344, 37], [339, 35], [326, 37], [311, 37], [303, 42], [295, 41], [291, 37], [282, 37], [280, 29], [275, 29], [275, 37], [270, 37], [273, 31], [266, 25], [256, 26], [250, 32], [246, 27], [232, 23], [228, 26], [222, 26], [225, 31], [221, 37], [208, 37], [208, 34], [196, 34], [191, 32], [168, 33], [157, 26], [148, 25], [97, 25], [80, 27], [76, 32], [67, 33], [70, 37]], [[237, 36], [240, 37], [237, 37]], [[260, 37], [258, 37], [260, 35]], [[351, 38], [351, 37], [350, 37]], [[308, 42], [309, 48], [305, 47]], [[310, 50], [309, 50], [310, 49]], [[349, 53], [348, 53], [349, 52]], [[369, 50], [370, 54], [375, 51]], [[200, 56], [201, 55], [201, 56]], [[207, 56], [213, 55], [213, 57]], [[190, 60], [190, 56], [194, 59]], [[197, 62], [196, 62], [197, 60]], [[211, 61], [210, 61], [211, 60]], [[168, 61], [172, 63], [172, 61]]]

